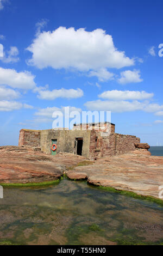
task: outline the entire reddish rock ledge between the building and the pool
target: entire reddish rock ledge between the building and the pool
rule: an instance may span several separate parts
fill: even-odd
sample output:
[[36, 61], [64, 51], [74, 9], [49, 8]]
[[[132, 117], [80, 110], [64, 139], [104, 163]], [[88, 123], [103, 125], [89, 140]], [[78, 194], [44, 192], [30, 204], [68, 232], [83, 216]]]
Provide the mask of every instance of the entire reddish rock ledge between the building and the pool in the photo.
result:
[[151, 156], [147, 149], [137, 148], [95, 162], [85, 160], [70, 153], [51, 156], [28, 146], [0, 147], [0, 184], [54, 181], [66, 173], [72, 180], [86, 179], [89, 184], [159, 198], [163, 156]]

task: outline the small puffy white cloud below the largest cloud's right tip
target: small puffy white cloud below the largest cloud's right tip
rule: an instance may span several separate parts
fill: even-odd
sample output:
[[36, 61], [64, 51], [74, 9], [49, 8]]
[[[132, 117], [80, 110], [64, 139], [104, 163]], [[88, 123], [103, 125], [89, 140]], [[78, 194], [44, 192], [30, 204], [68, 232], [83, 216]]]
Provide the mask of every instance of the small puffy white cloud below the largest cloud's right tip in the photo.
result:
[[121, 72], [121, 78], [118, 78], [118, 83], [126, 84], [126, 83], [140, 83], [143, 80], [140, 78], [139, 70], [126, 70]]

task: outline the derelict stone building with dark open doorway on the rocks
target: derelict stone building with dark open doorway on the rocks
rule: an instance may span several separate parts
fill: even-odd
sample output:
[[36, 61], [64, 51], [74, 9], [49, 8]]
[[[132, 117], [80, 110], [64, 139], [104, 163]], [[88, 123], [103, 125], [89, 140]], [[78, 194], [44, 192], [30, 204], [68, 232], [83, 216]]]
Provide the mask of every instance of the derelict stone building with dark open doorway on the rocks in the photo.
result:
[[[40, 147], [47, 154], [60, 152], [82, 155], [90, 159], [127, 153], [140, 143], [136, 136], [115, 133], [115, 124], [109, 122], [74, 124], [72, 130], [26, 130], [20, 131], [18, 145]], [[52, 151], [52, 145], [57, 150]]]

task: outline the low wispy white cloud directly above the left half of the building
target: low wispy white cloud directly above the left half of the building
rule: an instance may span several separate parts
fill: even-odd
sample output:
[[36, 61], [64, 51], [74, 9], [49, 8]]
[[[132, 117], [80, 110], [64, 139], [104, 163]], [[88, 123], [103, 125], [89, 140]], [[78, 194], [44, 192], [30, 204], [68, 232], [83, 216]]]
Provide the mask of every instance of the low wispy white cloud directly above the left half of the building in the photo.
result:
[[[69, 110], [70, 110], [70, 112], [72, 112], [72, 111], [81, 112], [82, 111], [82, 109], [80, 109], [80, 108], [70, 107], [70, 106], [69, 106]], [[52, 117], [52, 114], [53, 114], [54, 111], [61, 111], [62, 113], [64, 113], [65, 107], [61, 107], [61, 108], [58, 108], [58, 107], [42, 108], [42, 109], [39, 109], [39, 111], [37, 111], [35, 113], [35, 115], [39, 115], [41, 117]]]

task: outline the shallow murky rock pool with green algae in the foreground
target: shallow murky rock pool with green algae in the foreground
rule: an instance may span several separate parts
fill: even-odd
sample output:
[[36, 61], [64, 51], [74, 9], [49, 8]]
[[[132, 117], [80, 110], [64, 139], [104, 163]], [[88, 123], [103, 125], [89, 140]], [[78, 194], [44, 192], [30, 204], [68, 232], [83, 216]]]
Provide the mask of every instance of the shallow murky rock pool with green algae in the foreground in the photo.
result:
[[42, 188], [4, 188], [0, 244], [163, 244], [163, 207], [61, 180]]

